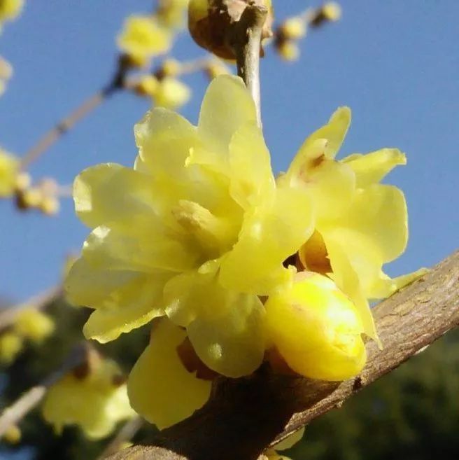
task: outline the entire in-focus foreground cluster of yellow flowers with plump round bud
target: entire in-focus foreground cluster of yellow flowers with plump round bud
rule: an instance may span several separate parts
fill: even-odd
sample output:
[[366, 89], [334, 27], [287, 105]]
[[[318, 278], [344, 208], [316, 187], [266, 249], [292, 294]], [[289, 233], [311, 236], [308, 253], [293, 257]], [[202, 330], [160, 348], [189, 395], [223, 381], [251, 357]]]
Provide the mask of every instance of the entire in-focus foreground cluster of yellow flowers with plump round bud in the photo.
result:
[[382, 271], [407, 244], [407, 209], [379, 181], [405, 157], [336, 160], [350, 121], [338, 109], [276, 179], [246, 87], [219, 76], [197, 126], [155, 108], [134, 128], [134, 169], [76, 178], [76, 212], [94, 230], [65, 284], [94, 309], [85, 336], [108, 342], [158, 318], [127, 384], [136, 412], [174, 424], [215, 375], [264, 360], [317, 379], [360, 372], [362, 335], [379, 340], [368, 301], [417, 274]]

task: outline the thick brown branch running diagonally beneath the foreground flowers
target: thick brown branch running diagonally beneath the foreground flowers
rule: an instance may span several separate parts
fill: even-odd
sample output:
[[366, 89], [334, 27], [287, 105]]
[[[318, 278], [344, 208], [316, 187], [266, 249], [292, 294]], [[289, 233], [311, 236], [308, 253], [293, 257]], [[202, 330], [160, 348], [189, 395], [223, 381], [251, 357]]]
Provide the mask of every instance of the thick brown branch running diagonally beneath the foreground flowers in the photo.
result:
[[362, 374], [347, 382], [272, 375], [262, 368], [242, 379], [216, 382], [206, 405], [167, 428], [151, 444], [111, 460], [255, 460], [263, 449], [340, 407], [364, 386], [390, 372], [459, 324], [459, 251], [384, 300], [374, 317], [384, 349], [367, 344]]

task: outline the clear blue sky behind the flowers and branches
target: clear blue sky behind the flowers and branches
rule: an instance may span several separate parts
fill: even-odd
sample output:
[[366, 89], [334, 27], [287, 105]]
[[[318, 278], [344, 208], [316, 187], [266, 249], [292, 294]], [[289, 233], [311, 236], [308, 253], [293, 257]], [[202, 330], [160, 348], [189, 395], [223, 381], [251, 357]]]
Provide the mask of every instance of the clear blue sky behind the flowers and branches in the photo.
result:
[[[15, 69], [0, 98], [0, 145], [22, 154], [54, 123], [104, 85], [115, 62], [123, 19], [146, 12], [148, 0], [27, 1], [0, 36], [0, 55]], [[274, 1], [278, 19], [317, 1]], [[341, 155], [396, 146], [408, 165], [389, 181], [406, 194], [410, 242], [388, 267], [402, 274], [430, 266], [458, 246], [459, 1], [343, 0], [341, 22], [311, 32], [299, 62], [268, 51], [262, 62], [262, 116], [273, 167], [285, 169], [304, 137], [337, 106], [353, 109]], [[183, 34], [174, 56], [204, 55]], [[183, 113], [197, 120], [205, 80]], [[132, 127], [148, 102], [115, 96], [67, 134], [31, 169], [36, 178], [71, 183], [97, 162], [131, 165]], [[0, 298], [24, 300], [59, 280], [64, 256], [88, 230], [71, 200], [55, 218], [20, 214], [0, 202]]]

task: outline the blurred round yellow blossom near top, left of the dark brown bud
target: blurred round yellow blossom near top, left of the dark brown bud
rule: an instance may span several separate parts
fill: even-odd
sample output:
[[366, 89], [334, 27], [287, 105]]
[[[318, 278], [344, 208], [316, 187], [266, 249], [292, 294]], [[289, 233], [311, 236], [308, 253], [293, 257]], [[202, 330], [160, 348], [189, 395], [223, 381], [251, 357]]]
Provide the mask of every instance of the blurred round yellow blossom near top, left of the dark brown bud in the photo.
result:
[[167, 53], [171, 44], [171, 32], [158, 24], [153, 16], [129, 16], [118, 36], [120, 50], [139, 67], [148, 64], [152, 57]]

